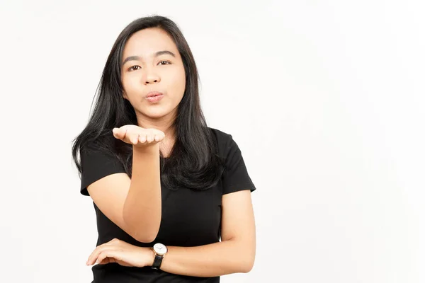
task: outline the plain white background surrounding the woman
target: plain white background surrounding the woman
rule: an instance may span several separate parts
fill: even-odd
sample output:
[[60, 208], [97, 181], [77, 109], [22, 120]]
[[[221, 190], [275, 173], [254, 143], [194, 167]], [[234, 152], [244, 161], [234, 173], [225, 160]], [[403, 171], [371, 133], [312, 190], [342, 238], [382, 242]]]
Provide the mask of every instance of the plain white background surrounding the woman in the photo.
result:
[[151, 14], [183, 31], [257, 187], [254, 269], [222, 282], [425, 282], [422, 1], [0, 3], [2, 282], [91, 282], [71, 141]]

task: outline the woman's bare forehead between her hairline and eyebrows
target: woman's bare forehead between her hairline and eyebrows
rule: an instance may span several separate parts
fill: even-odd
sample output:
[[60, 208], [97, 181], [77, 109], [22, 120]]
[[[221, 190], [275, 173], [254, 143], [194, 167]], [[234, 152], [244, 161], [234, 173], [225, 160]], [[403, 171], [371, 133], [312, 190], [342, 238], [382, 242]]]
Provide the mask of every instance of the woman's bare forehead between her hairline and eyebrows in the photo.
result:
[[168, 33], [160, 28], [145, 28], [132, 34], [125, 42], [123, 57], [138, 55], [149, 57], [154, 52], [169, 50], [178, 54], [176, 44]]

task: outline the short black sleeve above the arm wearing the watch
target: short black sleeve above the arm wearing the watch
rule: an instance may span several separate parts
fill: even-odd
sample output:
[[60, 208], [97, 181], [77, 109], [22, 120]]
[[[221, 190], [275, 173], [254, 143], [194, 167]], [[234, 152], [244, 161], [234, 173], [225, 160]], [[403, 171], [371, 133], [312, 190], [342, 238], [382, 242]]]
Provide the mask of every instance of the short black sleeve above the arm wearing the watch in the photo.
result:
[[251, 192], [254, 192], [256, 187], [249, 177], [242, 152], [231, 134], [229, 134], [225, 152], [227, 154], [225, 155], [226, 168], [222, 175], [222, 194], [225, 195], [239, 190], [251, 190]]

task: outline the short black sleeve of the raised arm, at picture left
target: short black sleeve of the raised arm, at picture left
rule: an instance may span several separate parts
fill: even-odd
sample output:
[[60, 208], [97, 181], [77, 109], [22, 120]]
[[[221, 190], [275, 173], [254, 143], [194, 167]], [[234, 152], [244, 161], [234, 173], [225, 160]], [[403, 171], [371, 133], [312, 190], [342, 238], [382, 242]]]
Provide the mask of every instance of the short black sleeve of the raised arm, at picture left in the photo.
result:
[[125, 173], [122, 163], [105, 151], [96, 149], [93, 144], [84, 146], [80, 151], [81, 159], [81, 195], [89, 195], [87, 186], [114, 173]]

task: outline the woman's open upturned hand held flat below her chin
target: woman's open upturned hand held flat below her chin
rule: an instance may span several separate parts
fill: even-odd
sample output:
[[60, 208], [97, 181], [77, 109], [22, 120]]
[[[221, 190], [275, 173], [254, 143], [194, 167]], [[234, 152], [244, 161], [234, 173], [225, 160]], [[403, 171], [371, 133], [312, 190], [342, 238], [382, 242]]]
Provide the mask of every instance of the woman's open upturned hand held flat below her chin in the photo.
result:
[[136, 125], [124, 125], [113, 128], [113, 137], [134, 146], [147, 146], [157, 144], [165, 137], [159, 129], [145, 129]]

